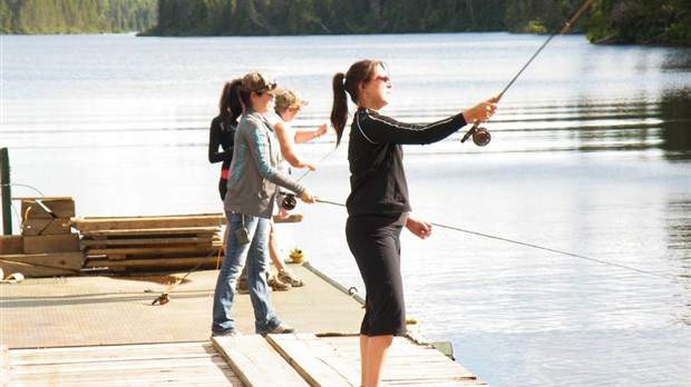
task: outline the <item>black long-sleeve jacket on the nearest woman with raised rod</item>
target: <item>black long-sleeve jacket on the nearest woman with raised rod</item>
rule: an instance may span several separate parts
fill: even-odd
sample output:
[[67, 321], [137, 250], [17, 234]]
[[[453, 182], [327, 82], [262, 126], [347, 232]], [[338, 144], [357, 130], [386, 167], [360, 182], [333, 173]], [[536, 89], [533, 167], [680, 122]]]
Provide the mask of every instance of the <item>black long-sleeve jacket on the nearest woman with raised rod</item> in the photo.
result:
[[359, 108], [350, 128], [348, 214], [397, 217], [410, 211], [402, 145], [440, 141], [467, 122], [463, 113], [427, 125], [406, 123]]

